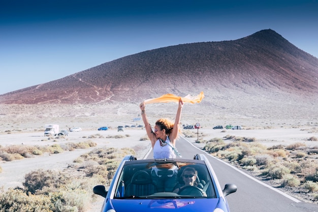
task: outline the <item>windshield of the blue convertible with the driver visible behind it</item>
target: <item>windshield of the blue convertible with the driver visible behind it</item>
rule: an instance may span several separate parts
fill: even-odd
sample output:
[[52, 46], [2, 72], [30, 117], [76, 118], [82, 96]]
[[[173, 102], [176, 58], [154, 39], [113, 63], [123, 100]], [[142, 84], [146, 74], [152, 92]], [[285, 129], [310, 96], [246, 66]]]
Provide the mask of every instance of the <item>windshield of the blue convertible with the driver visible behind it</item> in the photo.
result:
[[204, 163], [126, 162], [115, 188], [116, 199], [216, 198]]

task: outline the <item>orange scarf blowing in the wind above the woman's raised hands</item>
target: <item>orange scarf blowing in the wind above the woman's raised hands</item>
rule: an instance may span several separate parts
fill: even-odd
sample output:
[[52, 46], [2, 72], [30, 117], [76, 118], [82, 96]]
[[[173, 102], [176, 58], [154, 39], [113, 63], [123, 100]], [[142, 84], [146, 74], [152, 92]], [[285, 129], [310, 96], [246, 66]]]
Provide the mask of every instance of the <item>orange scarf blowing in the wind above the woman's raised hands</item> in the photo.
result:
[[151, 104], [151, 103], [167, 103], [167, 102], [179, 102], [179, 99], [182, 99], [183, 102], [189, 102], [189, 103], [200, 103], [202, 99], [204, 98], [203, 92], [201, 92], [197, 96], [191, 96], [191, 95], [186, 95], [185, 97], [177, 97], [173, 94], [165, 94], [161, 97], [154, 98], [154, 99], [147, 99], [145, 100], [145, 104]]

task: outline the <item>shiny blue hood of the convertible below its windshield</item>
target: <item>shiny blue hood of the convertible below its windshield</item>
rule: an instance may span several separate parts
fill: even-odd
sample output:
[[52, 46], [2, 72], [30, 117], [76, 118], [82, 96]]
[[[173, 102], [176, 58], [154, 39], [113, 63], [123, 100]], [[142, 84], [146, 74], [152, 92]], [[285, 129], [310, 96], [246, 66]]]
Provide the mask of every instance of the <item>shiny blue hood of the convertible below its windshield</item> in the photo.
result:
[[120, 211], [213, 211], [219, 199], [113, 199], [117, 212]]

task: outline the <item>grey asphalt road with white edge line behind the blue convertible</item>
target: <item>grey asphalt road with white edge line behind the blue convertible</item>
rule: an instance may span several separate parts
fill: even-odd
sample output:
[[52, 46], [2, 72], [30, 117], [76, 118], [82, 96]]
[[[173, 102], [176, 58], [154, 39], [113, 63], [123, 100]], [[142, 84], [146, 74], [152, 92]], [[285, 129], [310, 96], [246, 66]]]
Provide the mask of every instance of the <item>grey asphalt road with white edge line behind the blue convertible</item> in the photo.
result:
[[[176, 145], [184, 159], [193, 159], [196, 154], [206, 152], [194, 146], [185, 138], [179, 138]], [[230, 194], [228, 199], [231, 212], [317, 212], [318, 205], [302, 202], [294, 197], [284, 194], [280, 190], [272, 188], [261, 181], [245, 174], [239, 169], [206, 154], [220, 183], [221, 188], [225, 184], [233, 183], [237, 186], [237, 192]], [[152, 152], [148, 158], [152, 158]]]

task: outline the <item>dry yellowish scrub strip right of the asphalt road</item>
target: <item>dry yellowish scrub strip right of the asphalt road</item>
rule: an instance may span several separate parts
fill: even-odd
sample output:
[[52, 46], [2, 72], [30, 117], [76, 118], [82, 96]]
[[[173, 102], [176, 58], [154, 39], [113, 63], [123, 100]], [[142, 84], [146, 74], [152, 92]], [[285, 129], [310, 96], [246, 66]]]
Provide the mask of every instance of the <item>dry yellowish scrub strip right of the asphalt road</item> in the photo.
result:
[[[233, 142], [224, 142], [230, 139]], [[282, 188], [293, 187], [296, 191], [304, 188], [308, 190], [308, 199], [316, 195], [318, 157], [309, 154], [315, 151], [315, 146], [309, 148], [304, 143], [295, 142], [286, 146], [279, 144], [265, 147], [250, 140], [254, 139], [235, 136], [213, 138], [205, 144], [204, 149], [239, 168], [251, 171], [253, 175], [278, 180]]]

